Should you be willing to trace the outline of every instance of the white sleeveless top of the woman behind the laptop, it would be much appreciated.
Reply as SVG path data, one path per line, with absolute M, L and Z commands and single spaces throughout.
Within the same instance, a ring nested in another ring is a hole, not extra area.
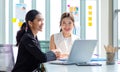
M 79 37 L 74 34 L 71 34 L 71 37 L 68 37 L 68 38 L 64 38 L 62 32 L 54 34 L 54 42 L 55 42 L 56 48 L 61 53 L 69 54 L 71 51 L 73 42 L 77 39 L 79 39 Z

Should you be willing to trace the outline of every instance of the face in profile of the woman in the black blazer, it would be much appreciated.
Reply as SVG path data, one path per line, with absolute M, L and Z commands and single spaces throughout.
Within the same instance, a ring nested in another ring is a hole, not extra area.
M 42 31 L 43 28 L 43 17 L 41 14 L 37 14 L 35 16 L 35 19 L 33 21 L 30 21 L 30 26 L 32 28 L 32 30 L 38 32 L 38 31 Z

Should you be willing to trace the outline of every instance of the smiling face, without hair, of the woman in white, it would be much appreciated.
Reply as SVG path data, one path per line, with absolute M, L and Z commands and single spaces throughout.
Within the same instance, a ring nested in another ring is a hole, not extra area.
M 74 22 L 69 18 L 63 18 L 61 22 L 61 29 L 63 33 L 71 33 L 74 27 Z

